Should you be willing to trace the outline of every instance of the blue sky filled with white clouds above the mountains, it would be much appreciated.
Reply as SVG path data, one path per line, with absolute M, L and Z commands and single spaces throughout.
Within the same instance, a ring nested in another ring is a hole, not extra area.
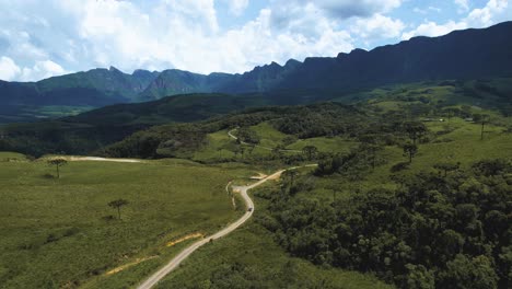
M 512 20 L 509 0 L 0 0 L 0 80 L 241 73 Z

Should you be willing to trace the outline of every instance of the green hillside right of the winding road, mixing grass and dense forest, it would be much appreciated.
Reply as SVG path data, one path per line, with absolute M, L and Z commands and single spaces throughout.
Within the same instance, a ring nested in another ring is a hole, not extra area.
M 258 188 L 255 223 L 199 251 L 160 288 L 282 287 L 280 250 L 298 258 L 284 266 L 293 271 L 305 273 L 305 261 L 398 288 L 510 288 L 512 119 L 491 104 L 501 99 L 489 93 L 498 83 L 381 88 L 356 106 L 254 108 L 152 127 L 103 153 L 244 163 L 263 173 L 318 163 Z M 265 253 L 275 250 L 279 257 Z M 340 287 L 330 278 L 324 286 Z

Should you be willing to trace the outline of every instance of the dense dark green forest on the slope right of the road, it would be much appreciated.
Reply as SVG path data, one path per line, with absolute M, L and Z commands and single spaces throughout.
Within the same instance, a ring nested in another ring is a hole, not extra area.
M 400 288 L 510 288 L 511 176 L 510 160 L 486 160 L 329 204 L 307 197 L 307 177 L 289 180 L 263 195 L 260 222 L 295 256 Z

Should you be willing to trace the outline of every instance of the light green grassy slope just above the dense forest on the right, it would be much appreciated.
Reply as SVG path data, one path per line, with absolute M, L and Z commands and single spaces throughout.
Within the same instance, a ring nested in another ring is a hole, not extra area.
M 480 140 L 481 126 L 467 123 L 459 118 L 446 122 L 427 123 L 429 130 L 428 143 L 418 144 L 418 154 L 412 159 L 408 169 L 397 174 L 412 175 L 421 171 L 437 172 L 437 163 L 461 163 L 462 169 L 468 169 L 474 162 L 484 159 L 511 158 L 512 134 L 504 132 L 504 127 L 488 125 L 485 128 L 484 140 Z M 439 132 L 441 131 L 441 132 Z M 337 198 L 348 198 L 350 195 L 368 192 L 372 188 L 395 187 L 389 182 L 393 165 L 407 162 L 402 148 L 385 147 L 377 153 L 381 165 L 370 170 L 362 180 L 346 180 L 339 176 L 315 178 L 315 194 L 312 197 L 333 199 L 336 190 Z

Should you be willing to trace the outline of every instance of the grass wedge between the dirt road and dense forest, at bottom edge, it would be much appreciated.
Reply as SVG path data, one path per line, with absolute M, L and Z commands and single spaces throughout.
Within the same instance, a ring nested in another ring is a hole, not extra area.
M 265 201 L 254 199 L 257 208 L 254 218 L 258 219 L 265 213 Z M 322 268 L 289 256 L 254 219 L 229 236 L 199 248 L 156 288 L 210 288 L 212 279 L 220 278 L 221 274 L 228 274 L 224 277 L 232 278 L 238 287 L 218 284 L 216 288 L 244 288 L 231 269 L 225 271 L 236 266 L 249 271 L 255 288 L 258 285 L 266 286 L 261 288 L 284 288 L 284 285 L 288 288 L 393 288 L 370 275 Z

